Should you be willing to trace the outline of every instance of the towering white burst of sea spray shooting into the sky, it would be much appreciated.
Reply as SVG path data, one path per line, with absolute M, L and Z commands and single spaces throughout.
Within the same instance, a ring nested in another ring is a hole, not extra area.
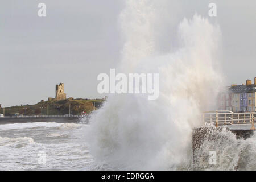
M 156 2 L 155 2 L 156 3 Z M 221 87 L 215 65 L 220 30 L 194 15 L 180 23 L 180 47 L 161 55 L 156 47 L 154 1 L 127 1 L 121 13 L 123 73 L 159 73 L 159 98 L 110 95 L 90 119 L 86 142 L 103 169 L 188 169 L 192 128 L 214 107 Z M 108 167 L 106 167 L 108 166 Z

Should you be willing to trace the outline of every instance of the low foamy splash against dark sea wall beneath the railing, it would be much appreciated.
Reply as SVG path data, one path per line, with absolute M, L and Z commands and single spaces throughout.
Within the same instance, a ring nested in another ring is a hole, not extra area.
M 216 156 L 216 163 L 209 164 L 209 151 Z M 200 148 L 195 151 L 194 170 L 255 170 L 256 138 L 237 138 L 236 134 L 222 127 L 209 127 Z

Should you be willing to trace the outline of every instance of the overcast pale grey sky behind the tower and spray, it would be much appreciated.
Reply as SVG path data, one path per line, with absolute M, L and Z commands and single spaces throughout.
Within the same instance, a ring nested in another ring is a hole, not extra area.
M 46 3 L 46 18 L 38 3 Z M 217 17 L 208 5 L 217 5 Z M 159 1 L 161 5 L 161 0 Z M 162 51 L 175 48 L 183 18 L 198 13 L 222 31 L 222 65 L 227 84 L 256 77 L 255 0 L 169 1 L 159 23 Z M 120 60 L 122 41 L 119 0 L 3 0 L 0 2 L 0 104 L 35 104 L 55 97 L 55 84 L 64 82 L 67 97 L 101 98 L 97 75 L 109 73 Z

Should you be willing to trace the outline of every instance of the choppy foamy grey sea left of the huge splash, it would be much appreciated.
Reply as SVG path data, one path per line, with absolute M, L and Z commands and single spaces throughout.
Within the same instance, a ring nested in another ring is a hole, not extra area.
M 81 135 L 88 125 L 14 123 L 0 125 L 0 170 L 81 169 L 92 162 Z M 46 163 L 40 163 L 44 151 Z

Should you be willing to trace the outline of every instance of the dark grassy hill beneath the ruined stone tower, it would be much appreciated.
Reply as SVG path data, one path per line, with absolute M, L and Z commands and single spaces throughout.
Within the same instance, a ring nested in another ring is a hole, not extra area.
M 71 114 L 81 114 L 83 111 L 90 113 L 102 105 L 105 100 L 96 99 L 73 99 L 66 100 L 51 100 L 38 102 L 35 105 L 24 105 L 24 115 L 46 115 L 46 108 L 48 107 L 48 115 L 69 114 L 69 105 Z M 3 108 L 0 109 L 3 113 Z M 12 106 L 5 108 L 5 115 L 14 115 L 15 113 L 22 114 L 22 106 Z

